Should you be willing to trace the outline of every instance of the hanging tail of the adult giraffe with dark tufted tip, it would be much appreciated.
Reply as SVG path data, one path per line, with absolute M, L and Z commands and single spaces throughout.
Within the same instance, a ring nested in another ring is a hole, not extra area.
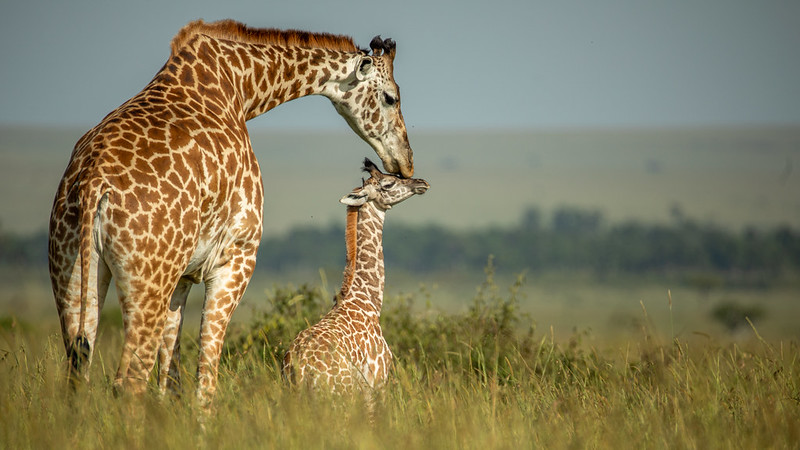
M 86 179 L 79 186 L 78 215 L 80 220 L 78 254 L 80 258 L 80 318 L 78 333 L 67 356 L 74 373 L 80 373 L 92 353 L 91 342 L 86 334 L 86 305 L 89 296 L 89 271 L 94 248 L 94 230 L 101 201 L 104 198 L 102 184 L 96 179 Z

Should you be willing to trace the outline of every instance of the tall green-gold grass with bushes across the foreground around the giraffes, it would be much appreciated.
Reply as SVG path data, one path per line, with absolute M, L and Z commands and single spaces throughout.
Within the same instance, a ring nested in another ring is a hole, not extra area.
M 738 343 L 662 341 L 648 320 L 623 345 L 588 346 L 580 332 L 557 342 L 520 313 L 524 278 L 501 289 L 493 275 L 490 264 L 457 314 L 433 309 L 425 291 L 387 299 L 395 367 L 372 425 L 359 396 L 312 398 L 281 382 L 286 346 L 330 307 L 324 286 L 277 288 L 230 331 L 202 420 L 191 358 L 182 397 L 115 397 L 116 361 L 100 352 L 121 344 L 109 330 L 92 382 L 71 393 L 60 337 L 2 322 L 0 448 L 798 447 L 797 342 L 767 342 L 755 328 Z

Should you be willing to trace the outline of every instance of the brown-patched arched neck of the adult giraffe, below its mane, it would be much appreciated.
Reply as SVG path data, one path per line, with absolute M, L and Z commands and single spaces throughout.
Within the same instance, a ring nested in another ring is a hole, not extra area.
M 347 51 L 346 45 L 311 48 L 231 39 L 209 32 L 173 43 L 162 71 L 172 72 L 181 84 L 196 83 L 205 98 L 208 92 L 203 91 L 221 91 L 228 101 L 239 103 L 245 120 L 250 120 L 306 95 L 333 97 L 355 69 L 355 47 Z

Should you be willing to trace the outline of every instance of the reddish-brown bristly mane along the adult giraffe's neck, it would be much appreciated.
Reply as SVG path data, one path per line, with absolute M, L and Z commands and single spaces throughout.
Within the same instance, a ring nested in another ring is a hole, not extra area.
M 193 37 L 205 34 L 218 39 L 227 39 L 252 44 L 278 44 L 289 47 L 325 48 L 345 52 L 363 52 L 350 36 L 311 33 L 301 30 L 279 30 L 276 28 L 251 28 L 234 20 L 205 22 L 202 19 L 190 22 L 172 39 L 172 53 L 176 54 Z

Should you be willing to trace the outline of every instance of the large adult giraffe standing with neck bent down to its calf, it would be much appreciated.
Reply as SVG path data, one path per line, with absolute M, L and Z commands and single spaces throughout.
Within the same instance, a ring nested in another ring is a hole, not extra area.
M 245 122 L 305 95 L 328 97 L 389 172 L 413 175 L 393 79 L 394 42 L 189 23 L 136 96 L 75 145 L 50 216 L 49 265 L 73 380 L 88 379 L 113 277 L 125 339 L 115 386 L 179 382 L 189 289 L 205 283 L 197 398 L 213 398 L 225 331 L 261 239 L 261 173 Z

